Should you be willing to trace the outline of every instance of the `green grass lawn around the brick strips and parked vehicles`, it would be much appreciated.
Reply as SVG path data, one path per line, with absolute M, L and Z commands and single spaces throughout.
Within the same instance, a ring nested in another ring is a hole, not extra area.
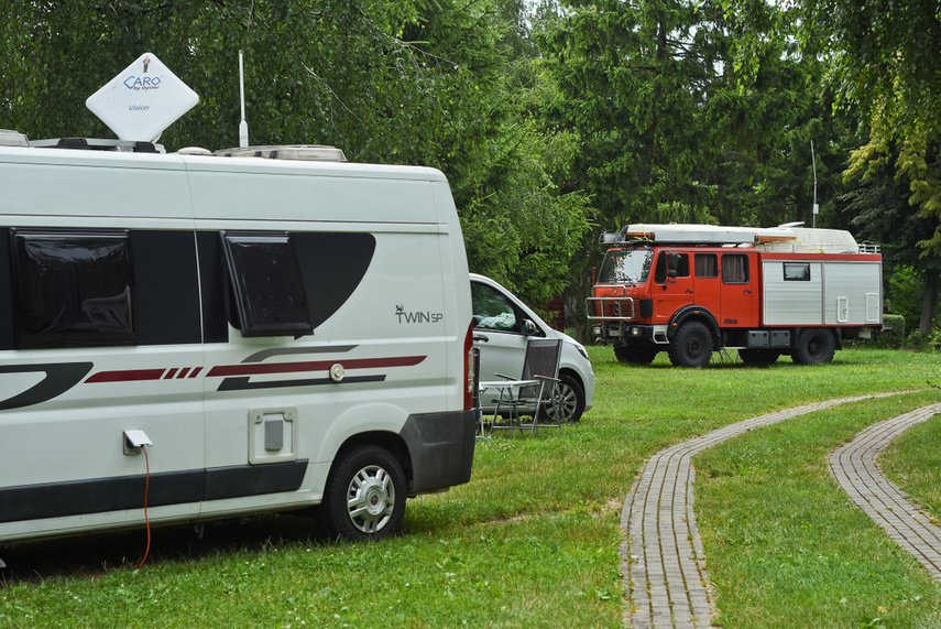
M 941 356 L 687 370 L 589 350 L 598 391 L 581 422 L 480 442 L 471 482 L 411 500 L 401 536 L 338 544 L 287 516 L 209 524 L 201 540 L 175 527 L 154 532 L 141 570 L 143 531 L 0 546 L 0 627 L 620 627 L 620 512 L 650 454 L 753 415 L 902 390 L 921 392 L 703 453 L 697 513 L 724 627 L 941 625 L 941 587 L 827 469 L 864 426 L 937 402 Z

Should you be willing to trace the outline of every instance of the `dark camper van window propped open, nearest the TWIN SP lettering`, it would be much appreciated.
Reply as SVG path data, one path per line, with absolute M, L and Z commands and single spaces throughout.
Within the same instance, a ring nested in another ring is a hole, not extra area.
M 286 232 L 222 231 L 242 336 L 299 336 L 314 327 L 294 245 Z

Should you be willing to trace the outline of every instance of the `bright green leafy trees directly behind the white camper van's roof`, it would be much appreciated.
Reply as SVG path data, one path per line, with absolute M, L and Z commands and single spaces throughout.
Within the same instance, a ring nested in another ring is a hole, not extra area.
M 524 9 L 494 0 L 4 2 L 0 121 L 34 139 L 110 137 L 84 100 L 150 51 L 200 97 L 162 143 L 233 147 L 242 50 L 253 144 L 333 144 L 351 161 L 442 170 L 472 268 L 539 303 L 561 292 L 587 204 L 548 180 L 544 143 L 521 123 L 525 102 L 506 96 L 515 86 L 505 62 L 532 54 Z

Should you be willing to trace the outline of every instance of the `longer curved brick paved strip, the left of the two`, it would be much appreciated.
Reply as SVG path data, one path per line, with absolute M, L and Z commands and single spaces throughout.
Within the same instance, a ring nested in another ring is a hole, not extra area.
M 787 409 L 677 444 L 652 456 L 634 480 L 621 528 L 621 570 L 628 603 L 625 625 L 637 629 L 709 627 L 712 598 L 702 542 L 692 510 L 692 457 L 755 427 L 872 398 L 827 400 Z

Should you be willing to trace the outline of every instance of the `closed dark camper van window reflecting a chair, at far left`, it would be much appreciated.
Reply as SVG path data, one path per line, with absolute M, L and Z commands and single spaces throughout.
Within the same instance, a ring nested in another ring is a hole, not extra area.
M 125 230 L 10 231 L 18 347 L 134 344 Z

